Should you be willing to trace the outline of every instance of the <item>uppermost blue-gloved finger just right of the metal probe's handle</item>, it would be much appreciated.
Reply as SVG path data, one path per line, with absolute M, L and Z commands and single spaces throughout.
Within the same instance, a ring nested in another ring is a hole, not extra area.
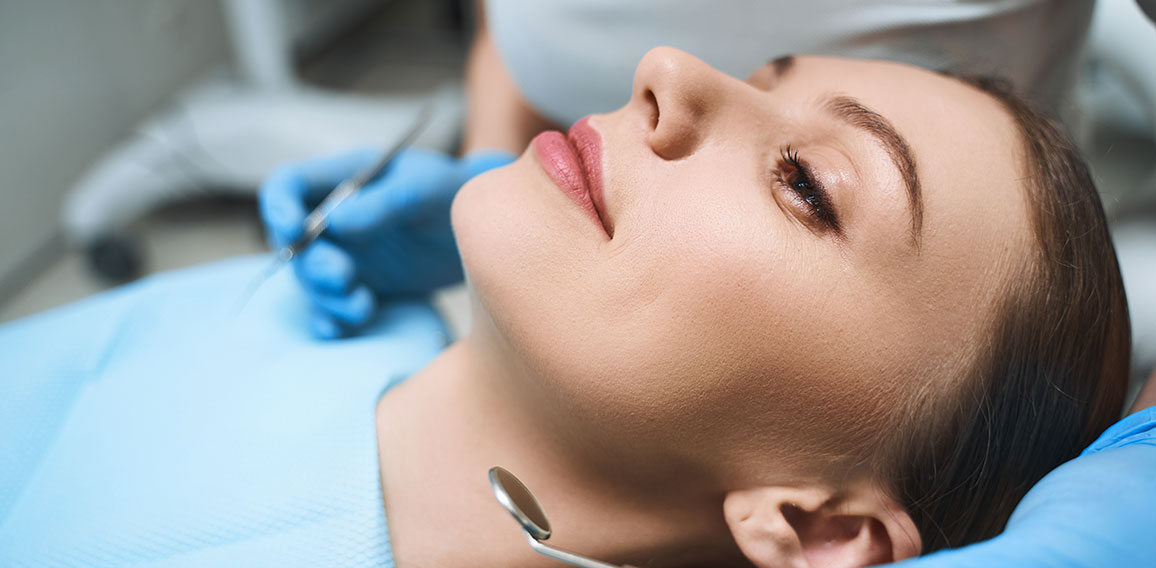
M 357 238 L 383 226 L 400 224 L 458 191 L 454 160 L 438 152 L 410 148 L 364 191 L 350 197 L 329 216 L 335 238 Z

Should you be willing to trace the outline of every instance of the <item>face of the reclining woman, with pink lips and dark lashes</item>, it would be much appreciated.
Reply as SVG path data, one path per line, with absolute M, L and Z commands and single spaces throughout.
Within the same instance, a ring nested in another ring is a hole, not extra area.
M 854 453 L 969 361 L 1030 243 L 1017 140 L 919 68 L 742 81 L 657 49 L 625 106 L 467 184 L 454 229 L 482 325 L 560 420 L 758 475 Z

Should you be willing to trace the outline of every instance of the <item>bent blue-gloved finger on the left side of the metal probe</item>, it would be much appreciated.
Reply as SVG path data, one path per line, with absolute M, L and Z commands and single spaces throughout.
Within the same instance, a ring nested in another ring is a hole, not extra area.
M 362 148 L 273 170 L 258 192 L 258 207 L 274 246 L 296 241 L 309 211 L 376 158 L 377 150 Z

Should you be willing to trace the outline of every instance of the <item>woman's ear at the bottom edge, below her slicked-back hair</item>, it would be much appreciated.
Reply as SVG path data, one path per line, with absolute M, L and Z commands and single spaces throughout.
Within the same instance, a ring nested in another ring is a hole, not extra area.
M 722 514 L 758 568 L 850 568 L 918 556 L 911 516 L 877 486 L 757 487 L 731 492 Z

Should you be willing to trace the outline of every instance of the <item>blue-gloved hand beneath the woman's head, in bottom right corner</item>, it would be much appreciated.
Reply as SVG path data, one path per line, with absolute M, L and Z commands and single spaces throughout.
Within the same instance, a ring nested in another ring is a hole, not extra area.
M 1119 421 L 1024 496 L 1000 536 L 903 568 L 1156 566 L 1156 407 Z

